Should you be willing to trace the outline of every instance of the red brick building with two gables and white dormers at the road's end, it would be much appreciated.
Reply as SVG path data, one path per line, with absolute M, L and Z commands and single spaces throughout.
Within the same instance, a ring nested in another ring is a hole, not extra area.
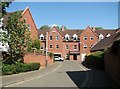
M 50 30 L 39 30 L 41 49 L 53 52 L 55 56 L 68 58 L 69 60 L 83 60 L 90 48 L 100 39 L 113 35 L 115 30 L 96 30 L 89 26 L 84 29 L 58 30 L 53 27 Z

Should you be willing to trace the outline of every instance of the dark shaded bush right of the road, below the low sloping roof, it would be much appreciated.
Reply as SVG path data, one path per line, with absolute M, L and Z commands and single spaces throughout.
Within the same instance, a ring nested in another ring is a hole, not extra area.
M 95 67 L 97 69 L 104 69 L 104 52 L 97 51 L 95 53 L 89 54 L 85 57 L 85 63 L 89 66 Z

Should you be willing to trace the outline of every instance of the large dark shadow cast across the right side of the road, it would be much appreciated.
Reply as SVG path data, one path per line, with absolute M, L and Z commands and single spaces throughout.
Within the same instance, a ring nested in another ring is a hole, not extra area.
M 100 70 L 88 70 L 88 71 L 67 71 L 67 75 L 77 85 L 78 88 L 83 85 L 86 80 L 86 73 L 88 72 L 88 81 L 85 84 L 85 89 L 120 89 L 120 86 L 104 71 Z

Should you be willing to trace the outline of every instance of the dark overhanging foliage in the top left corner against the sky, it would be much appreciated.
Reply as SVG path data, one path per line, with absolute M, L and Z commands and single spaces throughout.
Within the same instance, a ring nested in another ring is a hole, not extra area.
M 0 18 L 6 14 L 6 7 L 9 7 L 11 2 L 0 2 Z

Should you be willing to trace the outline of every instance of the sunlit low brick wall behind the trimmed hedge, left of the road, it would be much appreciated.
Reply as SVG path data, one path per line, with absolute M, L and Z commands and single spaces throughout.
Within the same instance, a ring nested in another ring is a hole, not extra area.
M 42 54 L 27 53 L 23 59 L 24 63 L 39 62 L 41 66 L 46 65 L 46 56 Z M 47 56 L 47 63 L 48 65 L 53 64 L 53 59 L 51 59 L 49 56 Z

